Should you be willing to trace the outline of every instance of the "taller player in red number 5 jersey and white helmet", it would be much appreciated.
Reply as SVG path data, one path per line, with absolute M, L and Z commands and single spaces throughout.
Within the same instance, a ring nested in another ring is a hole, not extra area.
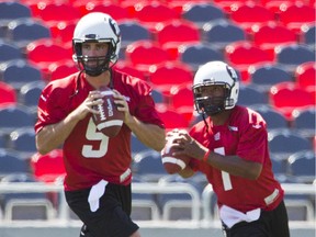
M 49 82 L 38 102 L 36 146 L 46 154 L 63 146 L 66 200 L 83 222 L 80 236 L 139 237 L 131 219 L 131 134 L 161 150 L 165 125 L 155 110 L 151 88 L 113 69 L 121 46 L 117 23 L 94 12 L 77 24 L 72 40 L 79 72 Z M 54 52 L 53 52 L 54 54 Z M 95 128 L 93 105 L 102 103 L 98 88 L 115 92 L 124 124 L 115 137 Z

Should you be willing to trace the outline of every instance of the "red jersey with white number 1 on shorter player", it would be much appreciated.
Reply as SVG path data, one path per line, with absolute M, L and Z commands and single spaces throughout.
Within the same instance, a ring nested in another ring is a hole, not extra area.
M 211 117 L 195 124 L 190 135 L 208 149 L 221 155 L 237 155 L 262 163 L 257 180 L 232 176 L 204 161 L 192 159 L 190 166 L 206 174 L 217 195 L 218 206 L 227 205 L 240 212 L 255 208 L 273 210 L 282 201 L 284 191 L 272 173 L 266 122 L 257 112 L 235 106 L 224 125 L 215 126 Z

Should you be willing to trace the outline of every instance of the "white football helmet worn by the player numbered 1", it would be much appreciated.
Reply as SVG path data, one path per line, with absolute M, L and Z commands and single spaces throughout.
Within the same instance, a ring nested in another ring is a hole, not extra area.
M 208 86 L 223 86 L 226 89 L 224 98 L 202 97 L 201 89 Z M 239 93 L 238 76 L 223 61 L 208 61 L 198 69 L 192 89 L 198 113 L 214 115 L 236 105 Z

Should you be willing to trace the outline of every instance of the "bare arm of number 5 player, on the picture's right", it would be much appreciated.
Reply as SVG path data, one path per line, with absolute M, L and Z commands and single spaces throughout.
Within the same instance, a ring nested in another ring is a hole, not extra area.
M 156 124 L 143 123 L 137 120 L 137 117 L 131 115 L 127 102 L 124 97 L 116 90 L 115 103 L 120 104 L 117 110 L 123 111 L 124 123 L 129 127 L 129 129 L 135 134 L 135 136 L 146 146 L 160 151 L 165 146 L 165 128 L 159 127 Z

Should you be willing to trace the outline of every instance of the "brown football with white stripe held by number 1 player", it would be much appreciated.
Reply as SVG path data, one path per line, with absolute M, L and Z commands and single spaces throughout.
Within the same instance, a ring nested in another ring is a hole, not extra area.
M 166 143 L 166 146 L 161 150 L 161 161 L 165 170 L 170 173 L 178 173 L 182 169 L 187 167 L 190 161 L 190 157 L 188 156 L 179 156 L 174 157 L 172 154 L 176 151 L 174 147 L 171 147 L 172 139 L 169 139 Z

